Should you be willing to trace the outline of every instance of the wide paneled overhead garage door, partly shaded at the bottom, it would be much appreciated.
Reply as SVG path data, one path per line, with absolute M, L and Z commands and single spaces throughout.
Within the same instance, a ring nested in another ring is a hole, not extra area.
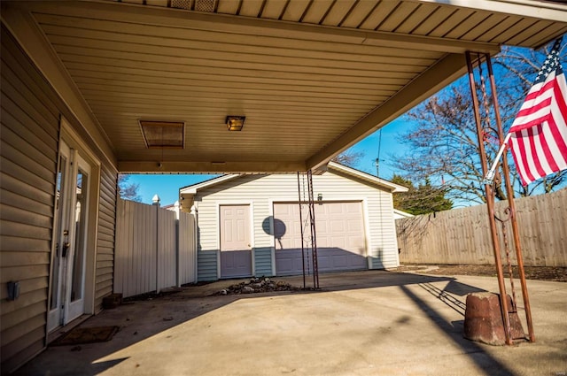
M 309 238 L 307 205 L 303 206 L 303 226 Z M 361 202 L 315 203 L 315 228 L 320 272 L 368 269 Z M 274 203 L 274 235 L 277 275 L 302 273 L 298 203 Z M 306 269 L 312 270 L 311 255 L 305 262 Z

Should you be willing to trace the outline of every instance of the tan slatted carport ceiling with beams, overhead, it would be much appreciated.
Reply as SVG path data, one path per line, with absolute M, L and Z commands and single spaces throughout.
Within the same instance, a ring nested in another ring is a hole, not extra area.
M 22 44 L 22 20 L 41 31 L 122 172 L 321 166 L 465 73 L 464 51 L 567 32 L 567 6 L 528 0 L 126 3 L 3 2 Z M 184 149 L 148 149 L 140 120 L 184 122 Z

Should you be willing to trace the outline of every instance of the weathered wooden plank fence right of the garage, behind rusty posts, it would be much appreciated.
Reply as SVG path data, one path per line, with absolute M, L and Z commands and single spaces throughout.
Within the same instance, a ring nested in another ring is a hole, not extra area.
M 515 203 L 524 265 L 567 266 L 567 188 L 516 199 Z M 506 218 L 507 206 L 507 202 L 496 203 L 499 218 Z M 502 234 L 499 221 L 497 226 Z M 506 226 L 512 263 L 516 265 L 509 222 Z M 486 205 L 396 219 L 396 231 L 401 263 L 494 264 Z M 505 257 L 503 241 L 501 246 Z

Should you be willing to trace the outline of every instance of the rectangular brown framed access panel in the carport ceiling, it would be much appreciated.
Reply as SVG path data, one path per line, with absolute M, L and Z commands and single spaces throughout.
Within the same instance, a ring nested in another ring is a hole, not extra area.
M 185 123 L 174 121 L 140 120 L 145 146 L 148 149 L 185 147 Z

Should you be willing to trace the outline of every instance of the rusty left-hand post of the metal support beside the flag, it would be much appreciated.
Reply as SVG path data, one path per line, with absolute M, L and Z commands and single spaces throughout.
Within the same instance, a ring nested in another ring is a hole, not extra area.
M 482 137 L 482 127 L 480 121 L 480 113 L 478 111 L 478 97 L 475 85 L 474 71 L 472 66 L 472 58 L 470 57 L 470 51 L 465 53 L 467 59 L 467 67 L 469 68 L 469 83 L 470 91 L 472 95 L 473 108 L 475 113 L 475 122 L 477 124 L 477 136 L 478 136 L 478 151 L 480 154 L 480 162 L 482 165 L 483 174 L 487 173 L 487 161 L 485 153 L 485 143 Z M 480 61 L 478 62 L 480 64 Z M 500 242 L 498 240 L 498 233 L 496 232 L 496 220 L 494 218 L 494 192 L 492 185 L 485 183 L 485 196 L 486 196 L 486 207 L 488 209 L 488 220 L 490 223 L 490 234 L 493 241 L 493 253 L 494 253 L 494 263 L 496 264 L 496 276 L 498 278 L 498 288 L 500 290 L 500 306 L 502 321 L 504 323 L 504 336 L 506 339 L 506 344 L 512 344 L 512 335 L 510 330 L 510 319 L 508 310 L 508 295 L 506 294 L 506 285 L 504 284 L 504 275 L 502 272 L 502 259 Z

